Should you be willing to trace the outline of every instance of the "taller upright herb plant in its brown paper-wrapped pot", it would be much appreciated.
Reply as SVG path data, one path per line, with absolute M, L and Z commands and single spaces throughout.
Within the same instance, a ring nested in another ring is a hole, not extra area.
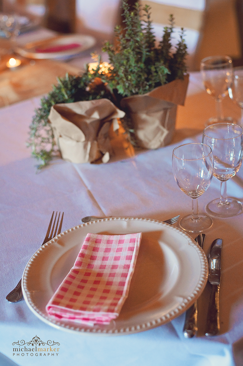
M 174 18 L 170 15 L 170 26 L 156 45 L 148 5 L 142 15 L 138 4 L 130 11 L 126 0 L 123 9 L 125 28 L 116 27 L 117 43 L 107 42 L 103 48 L 112 64 L 107 82 L 119 108 L 126 112 L 123 122 L 134 145 L 156 149 L 170 143 L 177 105 L 183 105 L 186 96 L 184 30 L 173 49 Z

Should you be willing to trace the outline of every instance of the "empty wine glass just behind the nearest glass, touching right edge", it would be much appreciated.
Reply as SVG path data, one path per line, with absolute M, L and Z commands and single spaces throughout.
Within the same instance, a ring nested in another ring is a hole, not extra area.
M 204 128 L 202 142 L 212 148 L 213 175 L 220 180 L 220 198 L 206 205 L 216 217 L 232 217 L 242 212 L 240 201 L 227 197 L 226 182 L 240 169 L 243 158 L 243 129 L 238 124 L 216 123 Z

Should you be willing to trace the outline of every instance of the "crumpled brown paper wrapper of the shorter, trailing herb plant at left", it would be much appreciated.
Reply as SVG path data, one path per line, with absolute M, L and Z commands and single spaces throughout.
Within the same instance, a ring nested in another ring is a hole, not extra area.
M 49 121 L 62 158 L 72 163 L 107 163 L 113 154 L 110 126 L 118 130 L 117 119 L 124 115 L 106 98 L 54 105 Z

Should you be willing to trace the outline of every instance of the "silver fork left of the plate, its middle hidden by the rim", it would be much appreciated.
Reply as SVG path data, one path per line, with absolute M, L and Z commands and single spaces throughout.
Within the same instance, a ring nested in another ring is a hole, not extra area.
M 53 220 L 53 216 L 54 216 L 54 211 L 53 211 L 52 217 L 50 219 L 50 223 L 49 223 L 49 226 L 48 226 L 48 229 L 47 229 L 47 232 L 46 232 L 45 239 L 44 239 L 43 243 L 41 244 L 41 246 L 44 245 L 45 243 L 49 242 L 49 240 L 53 239 L 56 235 L 60 234 L 61 228 L 62 228 L 62 220 L 63 220 L 64 212 L 62 212 L 61 221 L 60 221 L 60 224 L 59 224 L 59 227 L 58 227 L 58 222 L 59 222 L 59 219 L 60 219 L 60 213 L 61 212 L 59 212 L 59 215 L 58 215 L 58 218 L 57 218 L 57 212 L 56 212 L 56 216 L 55 216 L 54 223 L 53 223 L 53 226 L 52 226 L 52 220 Z M 56 224 L 56 228 L 55 228 L 56 219 L 57 219 L 57 224 Z M 52 227 L 52 231 L 51 231 L 51 227 Z M 57 230 L 57 228 L 58 228 L 58 230 Z M 54 229 L 55 229 L 55 231 L 54 231 Z M 54 233 L 53 233 L 53 231 L 54 231 Z M 12 290 L 6 296 L 6 299 L 8 301 L 17 302 L 17 301 L 22 299 L 23 292 L 22 292 L 21 282 L 22 282 L 22 279 L 19 281 L 18 285 L 14 288 L 14 290 Z

